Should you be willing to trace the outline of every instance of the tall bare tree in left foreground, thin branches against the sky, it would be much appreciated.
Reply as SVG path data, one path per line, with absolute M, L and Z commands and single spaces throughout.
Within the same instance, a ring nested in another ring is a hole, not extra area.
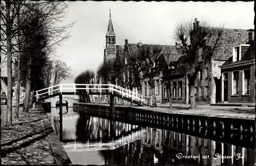
M 23 25 L 33 17 L 31 13 L 40 14 L 39 24 L 44 25 L 45 33 L 50 34 L 49 40 L 51 42 L 45 47 L 48 51 L 53 51 L 54 45 L 59 45 L 61 41 L 68 39 L 70 27 L 74 23 L 65 26 L 56 26 L 63 17 L 66 17 L 65 9 L 68 7 L 66 2 L 30 2 L 30 1 L 2 1 L 1 2 L 1 53 L 5 53 L 7 57 L 7 70 L 8 70 L 8 106 L 7 106 L 7 122 L 6 125 L 12 124 L 12 58 L 16 52 L 17 45 L 14 39 L 19 36 L 19 32 Z M 17 16 L 23 18 L 23 22 L 17 24 Z M 25 19 L 26 18 L 26 19 Z M 19 84 L 19 82 L 18 82 Z M 26 91 L 30 91 L 27 88 Z M 19 91 L 18 91 L 19 92 Z M 19 95 L 17 95 L 19 96 Z M 28 96 L 27 96 L 28 97 Z M 27 101 L 27 100 L 25 100 Z

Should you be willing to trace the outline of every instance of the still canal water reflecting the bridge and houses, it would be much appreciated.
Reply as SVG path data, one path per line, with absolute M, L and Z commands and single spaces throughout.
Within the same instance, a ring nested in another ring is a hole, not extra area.
M 63 142 L 73 164 L 254 165 L 255 151 L 153 126 L 138 126 L 63 112 Z M 47 113 L 59 133 L 59 107 Z M 238 136 L 239 137 L 239 136 Z M 254 139 L 250 139 L 253 140 Z M 232 142 L 233 143 L 233 142 Z

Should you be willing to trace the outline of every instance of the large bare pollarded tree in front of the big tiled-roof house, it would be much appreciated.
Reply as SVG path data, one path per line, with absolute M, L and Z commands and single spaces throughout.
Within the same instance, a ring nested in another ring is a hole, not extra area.
M 223 27 L 214 27 L 206 20 L 200 24 L 197 19 L 194 23 L 193 20 L 190 20 L 176 24 L 175 39 L 181 42 L 185 53 L 180 65 L 183 66 L 184 73 L 188 78 L 190 109 L 196 108 L 194 86 L 198 72 L 210 62 L 212 54 L 219 46 L 218 42 L 221 39 L 222 31 Z

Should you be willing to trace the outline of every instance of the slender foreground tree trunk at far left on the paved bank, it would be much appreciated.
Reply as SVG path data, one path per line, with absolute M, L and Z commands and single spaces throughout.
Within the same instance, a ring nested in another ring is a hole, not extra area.
M 6 45 L 7 45 L 7 114 L 6 126 L 12 125 L 12 52 L 11 52 L 11 20 L 10 2 L 6 1 Z

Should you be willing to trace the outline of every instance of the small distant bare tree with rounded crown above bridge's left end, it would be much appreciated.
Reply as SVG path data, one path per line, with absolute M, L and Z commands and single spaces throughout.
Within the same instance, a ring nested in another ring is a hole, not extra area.
M 70 71 L 71 68 L 67 66 L 65 62 L 55 60 L 52 70 L 53 86 L 58 85 L 62 80 L 72 78 L 72 74 L 70 73 Z

